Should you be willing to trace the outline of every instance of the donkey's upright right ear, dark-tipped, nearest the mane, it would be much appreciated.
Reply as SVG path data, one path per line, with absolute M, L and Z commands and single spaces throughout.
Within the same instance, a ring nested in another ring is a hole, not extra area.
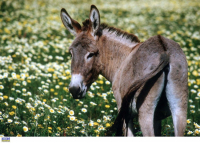
M 91 5 L 90 21 L 92 22 L 92 33 L 95 35 L 100 26 L 100 14 L 95 5 Z

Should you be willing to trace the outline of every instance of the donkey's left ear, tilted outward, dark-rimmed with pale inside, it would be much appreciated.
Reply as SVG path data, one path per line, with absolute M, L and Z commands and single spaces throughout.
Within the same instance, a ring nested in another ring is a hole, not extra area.
M 62 19 L 64 26 L 74 36 L 76 36 L 79 32 L 81 32 L 81 25 L 77 21 L 73 20 L 64 8 L 61 9 L 60 17 Z

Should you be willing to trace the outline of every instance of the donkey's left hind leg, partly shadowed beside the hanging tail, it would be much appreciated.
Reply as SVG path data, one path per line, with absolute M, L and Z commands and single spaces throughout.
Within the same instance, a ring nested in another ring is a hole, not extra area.
M 149 80 L 143 88 L 140 96 L 137 100 L 137 108 L 139 108 L 139 124 L 143 136 L 155 136 L 154 131 L 156 126 L 160 125 L 160 122 L 154 121 L 155 108 L 161 97 L 165 84 L 165 73 L 160 73 L 154 78 Z M 159 129 L 160 130 L 160 129 Z

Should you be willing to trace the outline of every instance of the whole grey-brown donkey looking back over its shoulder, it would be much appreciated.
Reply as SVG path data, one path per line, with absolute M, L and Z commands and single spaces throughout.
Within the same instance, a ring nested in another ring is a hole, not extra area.
M 75 36 L 69 47 L 73 98 L 83 98 L 101 74 L 112 83 L 117 102 L 116 135 L 134 136 L 135 115 L 143 136 L 160 136 L 161 120 L 170 115 L 175 136 L 184 135 L 188 72 L 186 57 L 176 42 L 160 35 L 140 42 L 134 34 L 100 24 L 95 5 L 83 26 L 64 8 L 60 16 Z

